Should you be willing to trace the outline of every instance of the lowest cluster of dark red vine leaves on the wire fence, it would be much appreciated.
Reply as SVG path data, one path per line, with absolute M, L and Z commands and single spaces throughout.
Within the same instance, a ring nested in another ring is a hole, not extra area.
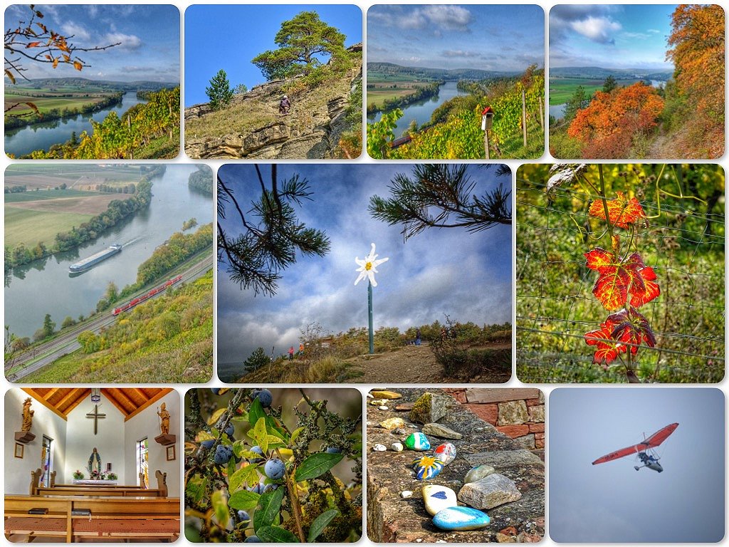
M 640 344 L 654 347 L 655 335 L 648 319 L 631 308 L 609 315 L 598 330 L 585 333 L 585 343 L 596 346 L 593 362 L 609 365 L 618 354 L 628 352 L 628 348 L 636 354 Z

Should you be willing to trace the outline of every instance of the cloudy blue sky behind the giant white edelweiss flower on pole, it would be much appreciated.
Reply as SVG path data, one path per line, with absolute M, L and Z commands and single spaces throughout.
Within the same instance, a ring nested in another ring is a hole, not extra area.
M 262 166 L 270 181 L 270 166 Z M 493 170 L 469 166 L 478 181 L 478 193 L 510 178 L 495 182 Z M 241 208 L 247 211 L 260 195 L 252 165 L 225 165 L 219 177 L 246 195 Z M 511 226 L 499 225 L 479 233 L 460 228 L 431 228 L 403 243 L 400 228 L 374 220 L 367 212 L 370 196 L 388 195 L 387 186 L 397 173 L 410 175 L 410 164 L 279 164 L 278 178 L 305 176 L 313 201 L 297 207 L 308 227 L 327 232 L 331 251 L 324 257 L 297 256 L 297 263 L 284 271 L 278 294 L 273 298 L 241 290 L 230 282 L 225 265 L 218 273 L 218 360 L 243 362 L 258 346 L 283 353 L 299 344 L 300 328 L 319 322 L 332 333 L 367 326 L 367 284 L 354 286 L 355 257 L 361 260 L 377 246 L 380 258 L 374 287 L 374 324 L 408 327 L 453 320 L 484 323 L 511 319 Z M 269 182 L 270 185 L 270 182 Z M 223 221 L 226 230 L 238 233 L 233 217 Z

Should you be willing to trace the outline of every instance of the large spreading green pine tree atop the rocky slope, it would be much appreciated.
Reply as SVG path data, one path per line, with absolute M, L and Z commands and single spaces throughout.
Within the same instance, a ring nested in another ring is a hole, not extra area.
M 253 59 L 268 80 L 308 74 L 321 65 L 317 55 L 330 55 L 336 60 L 347 57 L 346 36 L 327 25 L 316 12 L 301 12 L 281 23 L 274 42 L 278 50 L 268 50 Z

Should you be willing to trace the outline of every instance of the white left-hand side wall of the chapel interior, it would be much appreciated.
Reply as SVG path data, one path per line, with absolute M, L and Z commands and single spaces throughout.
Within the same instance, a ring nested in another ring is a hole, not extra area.
M 31 471 L 41 466 L 43 435 L 52 438 L 53 466 L 56 482 L 65 482 L 66 468 L 66 421 L 46 408 L 33 397 L 34 411 L 31 433 L 33 441 L 26 443 L 23 459 L 15 457 L 15 432 L 23 425 L 23 401 L 30 397 L 22 389 L 14 387 L 5 393 L 5 493 L 29 494 Z M 69 476 L 70 477 L 70 476 Z

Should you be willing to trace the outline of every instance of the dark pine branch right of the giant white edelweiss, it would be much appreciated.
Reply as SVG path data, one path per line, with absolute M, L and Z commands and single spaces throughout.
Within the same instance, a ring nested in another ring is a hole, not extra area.
M 511 180 L 511 171 L 487 165 L 497 179 Z M 390 198 L 373 195 L 368 210 L 389 225 L 402 225 L 407 240 L 426 228 L 467 228 L 480 231 L 511 224 L 511 190 L 499 185 L 486 191 L 465 165 L 418 164 L 413 178 L 398 173 L 389 185 Z M 477 195 L 477 192 L 483 193 Z

